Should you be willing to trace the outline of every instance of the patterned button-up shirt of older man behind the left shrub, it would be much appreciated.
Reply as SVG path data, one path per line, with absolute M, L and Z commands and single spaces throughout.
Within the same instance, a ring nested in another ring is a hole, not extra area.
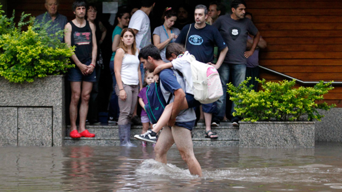
M 57 31 L 64 30 L 65 25 L 68 23 L 67 17 L 59 13 L 56 14 L 55 20 L 52 21 L 52 17 L 48 12 L 38 15 L 36 17 L 35 23 L 45 24 L 49 21 L 51 21 L 51 26 L 48 27 L 47 31 L 49 35 L 55 34 Z M 64 37 L 59 37 L 58 39 L 61 40 L 61 42 L 64 42 Z

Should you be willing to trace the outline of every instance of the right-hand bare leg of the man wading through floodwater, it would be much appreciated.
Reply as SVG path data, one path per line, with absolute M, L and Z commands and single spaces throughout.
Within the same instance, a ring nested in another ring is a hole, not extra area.
M 182 159 L 189 167 L 190 174 L 202 177 L 201 166 L 194 154 L 190 130 L 183 127 L 173 126 L 172 135 Z

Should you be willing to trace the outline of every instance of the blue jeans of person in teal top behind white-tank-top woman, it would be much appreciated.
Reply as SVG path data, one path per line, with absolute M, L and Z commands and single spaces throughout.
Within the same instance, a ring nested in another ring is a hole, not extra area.
M 113 93 L 111 94 L 110 101 L 109 101 L 108 117 L 118 119 L 120 110 L 119 110 L 118 96 L 116 95 L 116 92 L 115 92 L 116 78 L 115 78 L 115 73 L 114 73 L 114 61 L 110 61 L 109 69 L 110 69 L 111 77 L 113 78 Z

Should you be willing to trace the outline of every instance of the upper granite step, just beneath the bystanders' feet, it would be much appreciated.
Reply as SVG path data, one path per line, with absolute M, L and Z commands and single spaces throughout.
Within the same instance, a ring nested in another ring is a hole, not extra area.
M 118 126 L 117 125 L 86 125 L 86 129 L 90 133 L 94 133 L 96 138 L 113 138 L 118 137 Z M 219 127 L 212 127 L 213 132 L 217 133 L 219 138 L 238 138 L 239 128 L 234 127 L 231 123 L 222 125 Z M 136 134 L 141 134 L 142 126 L 131 127 L 131 137 L 133 138 Z M 193 138 L 204 138 L 206 127 L 204 125 L 198 125 L 193 128 Z M 67 126 L 67 136 L 70 134 L 70 126 Z

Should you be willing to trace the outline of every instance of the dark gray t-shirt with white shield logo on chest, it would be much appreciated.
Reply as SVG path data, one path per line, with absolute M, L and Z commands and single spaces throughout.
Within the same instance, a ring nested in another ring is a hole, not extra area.
M 228 53 L 224 58 L 224 63 L 246 64 L 247 59 L 244 55 L 248 33 L 255 36 L 258 33 L 257 27 L 249 18 L 234 20 L 231 15 L 219 17 L 213 26 L 216 27 L 228 45 Z

